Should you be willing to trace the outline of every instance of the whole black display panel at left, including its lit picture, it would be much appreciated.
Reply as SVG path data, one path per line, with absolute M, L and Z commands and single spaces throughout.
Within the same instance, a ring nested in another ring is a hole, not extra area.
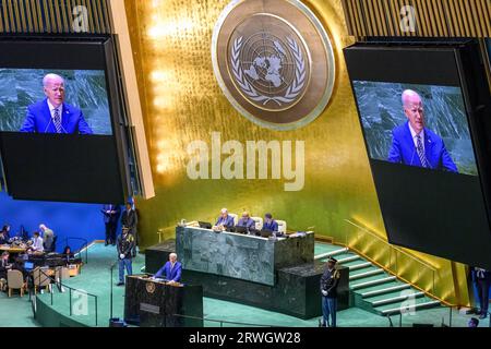
M 12 197 L 124 201 L 115 57 L 111 36 L 0 38 L 0 154 Z

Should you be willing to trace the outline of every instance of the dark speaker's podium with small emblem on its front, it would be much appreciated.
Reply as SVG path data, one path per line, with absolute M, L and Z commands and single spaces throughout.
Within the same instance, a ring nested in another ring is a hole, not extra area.
M 203 327 L 203 287 L 127 276 L 124 321 L 141 327 Z

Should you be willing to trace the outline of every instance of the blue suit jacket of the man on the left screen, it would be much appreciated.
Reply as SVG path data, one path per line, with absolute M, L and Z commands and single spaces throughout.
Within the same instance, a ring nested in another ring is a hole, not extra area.
M 85 121 L 82 110 L 67 104 L 63 104 L 61 125 L 62 133 L 94 133 Z M 49 111 L 48 99 L 38 101 L 27 107 L 27 115 L 20 131 L 28 133 L 57 133 L 57 129 L 52 122 L 51 112 Z

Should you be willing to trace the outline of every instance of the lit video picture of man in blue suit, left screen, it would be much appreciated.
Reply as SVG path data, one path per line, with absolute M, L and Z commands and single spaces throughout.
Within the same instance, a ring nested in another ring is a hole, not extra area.
M 0 131 L 112 134 L 105 72 L 0 68 Z

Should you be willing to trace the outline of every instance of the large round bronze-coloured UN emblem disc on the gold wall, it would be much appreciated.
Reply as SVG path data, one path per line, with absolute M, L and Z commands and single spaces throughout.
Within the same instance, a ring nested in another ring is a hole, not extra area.
M 232 106 L 273 130 L 301 128 L 325 109 L 334 52 L 323 25 L 297 0 L 236 0 L 213 34 L 215 76 Z

